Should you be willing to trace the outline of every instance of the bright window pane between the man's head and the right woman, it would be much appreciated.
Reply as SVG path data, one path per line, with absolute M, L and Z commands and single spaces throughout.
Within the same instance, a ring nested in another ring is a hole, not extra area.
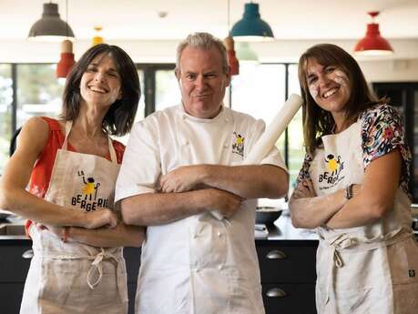
M 285 66 L 243 63 L 231 86 L 232 109 L 263 119 L 268 126 L 284 103 Z M 284 133 L 276 146 L 284 158 Z

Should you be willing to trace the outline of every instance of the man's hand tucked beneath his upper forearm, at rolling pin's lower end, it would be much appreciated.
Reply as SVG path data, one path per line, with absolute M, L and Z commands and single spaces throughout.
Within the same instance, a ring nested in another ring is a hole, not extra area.
M 212 206 L 209 209 L 219 211 L 224 218 L 233 216 L 240 209 L 241 202 L 244 200 L 223 189 L 209 188 L 208 191 L 212 201 Z

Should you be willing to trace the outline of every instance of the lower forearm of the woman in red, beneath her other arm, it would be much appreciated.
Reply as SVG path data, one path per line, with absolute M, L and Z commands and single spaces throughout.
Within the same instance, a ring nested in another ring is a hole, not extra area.
M 128 226 L 120 222 L 116 228 L 68 228 L 68 240 L 97 248 L 140 247 L 145 238 L 145 228 Z

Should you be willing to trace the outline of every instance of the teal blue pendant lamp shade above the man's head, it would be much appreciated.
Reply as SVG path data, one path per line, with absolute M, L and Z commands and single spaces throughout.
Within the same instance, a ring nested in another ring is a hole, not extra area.
M 259 4 L 245 4 L 242 19 L 232 26 L 230 35 L 236 41 L 273 41 L 270 25 L 260 18 Z

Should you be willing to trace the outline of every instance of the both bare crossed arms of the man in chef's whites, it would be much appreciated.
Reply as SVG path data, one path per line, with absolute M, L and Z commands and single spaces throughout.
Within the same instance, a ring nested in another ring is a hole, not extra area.
M 280 167 L 197 165 L 178 167 L 160 178 L 158 193 L 121 201 L 127 224 L 159 225 L 205 211 L 229 218 L 245 198 L 280 198 L 287 193 L 288 175 Z

